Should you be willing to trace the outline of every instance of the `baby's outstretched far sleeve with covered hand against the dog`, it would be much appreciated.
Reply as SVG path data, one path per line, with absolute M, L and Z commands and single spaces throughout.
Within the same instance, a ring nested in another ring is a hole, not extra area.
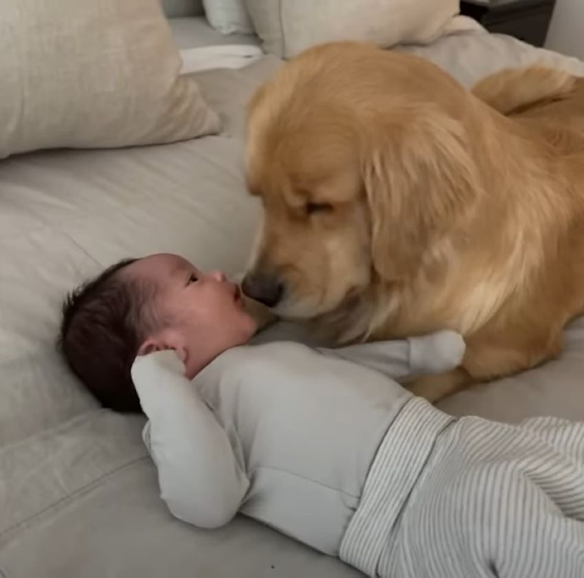
M 407 340 L 319 348 L 318 351 L 372 368 L 392 379 L 403 379 L 451 370 L 460 365 L 465 349 L 462 335 L 446 330 Z

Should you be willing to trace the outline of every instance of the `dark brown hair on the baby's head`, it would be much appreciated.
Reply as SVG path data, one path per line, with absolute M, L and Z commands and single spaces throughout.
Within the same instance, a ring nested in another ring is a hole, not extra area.
M 60 326 L 59 346 L 71 370 L 118 412 L 141 410 L 131 367 L 154 323 L 147 305 L 155 287 L 121 274 L 135 261 L 121 260 L 69 293 Z

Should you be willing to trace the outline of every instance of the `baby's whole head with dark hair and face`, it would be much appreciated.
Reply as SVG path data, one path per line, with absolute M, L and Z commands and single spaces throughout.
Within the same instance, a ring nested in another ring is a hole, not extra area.
M 174 349 L 192 379 L 256 331 L 237 285 L 177 255 L 120 261 L 71 293 L 60 344 L 71 369 L 107 408 L 139 411 L 137 355 Z

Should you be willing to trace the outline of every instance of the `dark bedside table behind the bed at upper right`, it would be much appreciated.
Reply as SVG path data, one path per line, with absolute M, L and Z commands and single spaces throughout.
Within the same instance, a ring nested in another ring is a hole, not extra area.
M 489 32 L 543 46 L 555 5 L 556 0 L 461 0 L 460 14 L 471 16 Z

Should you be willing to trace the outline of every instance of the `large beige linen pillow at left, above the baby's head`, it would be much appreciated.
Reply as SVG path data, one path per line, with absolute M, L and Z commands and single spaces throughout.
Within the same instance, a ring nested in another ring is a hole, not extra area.
M 159 0 L 2 0 L 0 158 L 216 133 Z

